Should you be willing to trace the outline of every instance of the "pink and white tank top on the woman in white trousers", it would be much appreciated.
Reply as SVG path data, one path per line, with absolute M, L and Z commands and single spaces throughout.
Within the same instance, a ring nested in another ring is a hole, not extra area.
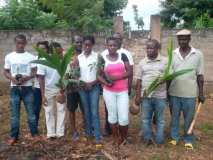
M 105 67 L 104 70 L 108 75 L 112 76 L 122 76 L 125 72 L 124 62 L 121 60 L 121 56 L 119 55 L 116 61 L 110 61 L 104 56 Z M 128 90 L 128 80 L 121 79 L 113 82 L 111 87 L 104 86 L 104 89 L 112 92 L 122 92 Z

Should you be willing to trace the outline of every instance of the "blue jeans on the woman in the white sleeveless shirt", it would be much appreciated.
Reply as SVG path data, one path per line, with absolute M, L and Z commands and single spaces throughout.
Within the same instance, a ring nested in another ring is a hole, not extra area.
M 86 135 L 93 136 L 94 128 L 96 143 L 99 143 L 101 137 L 99 118 L 100 88 L 98 85 L 95 85 L 92 87 L 91 90 L 79 91 L 79 94 L 84 108 L 84 116 L 86 120 Z

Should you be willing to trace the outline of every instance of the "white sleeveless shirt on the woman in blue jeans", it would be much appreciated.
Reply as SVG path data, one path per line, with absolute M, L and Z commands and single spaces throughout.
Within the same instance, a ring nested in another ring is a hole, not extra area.
M 97 79 L 97 63 L 98 54 L 94 51 L 86 57 L 84 53 L 78 55 L 80 67 L 80 80 L 84 82 L 92 82 Z

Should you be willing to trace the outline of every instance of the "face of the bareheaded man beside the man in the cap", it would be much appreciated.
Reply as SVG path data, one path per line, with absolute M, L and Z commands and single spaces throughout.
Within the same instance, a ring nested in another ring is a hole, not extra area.
M 158 46 L 154 42 L 148 42 L 146 45 L 147 57 L 155 59 L 158 56 Z

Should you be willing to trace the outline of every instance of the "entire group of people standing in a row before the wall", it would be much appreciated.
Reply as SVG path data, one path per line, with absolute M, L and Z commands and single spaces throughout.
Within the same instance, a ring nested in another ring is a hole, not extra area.
M 172 70 L 192 68 L 193 71 L 179 76 L 168 84 L 161 84 L 149 96 L 144 90 L 153 79 L 164 72 L 167 58 L 160 54 L 160 43 L 149 39 L 146 43 L 146 56 L 135 67 L 135 104 L 142 108 L 142 132 L 144 143 L 153 143 L 152 118 L 156 117 L 157 144 L 164 143 L 164 110 L 169 101 L 171 111 L 171 141 L 177 145 L 179 136 L 180 113 L 184 116 L 185 147 L 193 148 L 193 135 L 187 130 L 195 112 L 196 98 L 204 102 L 203 83 L 204 67 L 202 53 L 189 43 L 191 32 L 181 30 L 177 34 L 179 48 L 174 50 Z M 66 78 L 76 79 L 81 83 L 68 85 L 60 89 L 56 83 L 60 79 L 59 73 L 51 67 L 31 63 L 38 59 L 25 51 L 26 37 L 19 34 L 15 37 L 16 50 L 5 57 L 4 75 L 11 81 L 10 109 L 11 131 L 8 143 L 13 145 L 18 140 L 20 103 L 24 102 L 28 115 L 28 125 L 31 139 L 38 138 L 38 121 L 43 105 L 46 118 L 48 139 L 64 136 L 66 106 L 70 115 L 72 140 L 79 139 L 76 126 L 76 109 L 82 112 L 84 122 L 84 136 L 95 137 L 96 147 L 101 147 L 102 134 L 99 117 L 99 97 L 102 94 L 105 103 L 105 135 L 113 137 L 112 145 L 128 143 L 129 125 L 129 95 L 132 91 L 133 58 L 131 53 L 122 48 L 122 35 L 113 34 L 106 39 L 106 49 L 98 54 L 93 50 L 95 38 L 93 36 L 74 36 L 74 56 L 67 68 Z M 63 49 L 57 42 L 41 41 L 37 47 L 51 56 L 56 51 L 63 57 Z M 81 84 L 81 85 L 78 85 Z M 63 98 L 66 97 L 66 100 Z M 55 117 L 54 107 L 57 114 Z M 56 121 L 57 120 L 57 121 Z

